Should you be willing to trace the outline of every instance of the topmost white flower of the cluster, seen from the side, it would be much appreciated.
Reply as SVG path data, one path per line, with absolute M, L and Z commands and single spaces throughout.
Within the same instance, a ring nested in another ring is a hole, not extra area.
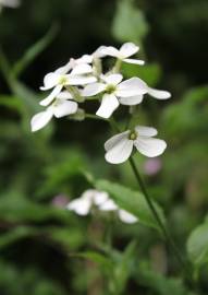
M 101 48 L 101 52 L 106 56 L 115 57 L 124 62 L 143 66 L 144 60 L 132 59 L 131 56 L 135 55 L 139 50 L 139 47 L 133 43 L 125 43 L 118 50 L 115 47 L 106 46 Z

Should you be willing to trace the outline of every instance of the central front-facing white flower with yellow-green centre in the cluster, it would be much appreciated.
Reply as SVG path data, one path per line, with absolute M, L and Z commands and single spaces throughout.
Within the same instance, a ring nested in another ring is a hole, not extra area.
M 101 105 L 96 115 L 109 118 L 112 113 L 122 105 L 137 105 L 142 102 L 143 95 L 147 93 L 147 84 L 139 78 L 131 78 L 122 81 L 121 74 L 101 75 L 103 82 L 91 83 L 82 92 L 83 96 L 93 96 L 103 93 Z

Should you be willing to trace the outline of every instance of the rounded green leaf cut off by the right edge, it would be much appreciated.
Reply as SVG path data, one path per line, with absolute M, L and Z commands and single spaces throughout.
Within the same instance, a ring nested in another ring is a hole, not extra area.
M 196 266 L 208 263 L 208 222 L 197 226 L 187 240 L 187 252 Z

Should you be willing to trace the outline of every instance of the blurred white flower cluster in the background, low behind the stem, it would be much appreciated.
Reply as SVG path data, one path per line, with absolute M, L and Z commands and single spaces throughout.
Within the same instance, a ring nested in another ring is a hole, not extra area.
M 124 223 L 131 224 L 138 221 L 133 214 L 120 209 L 107 192 L 95 189 L 86 190 L 79 198 L 72 200 L 66 205 L 68 210 L 82 216 L 88 215 L 94 208 L 99 211 L 114 212 Z

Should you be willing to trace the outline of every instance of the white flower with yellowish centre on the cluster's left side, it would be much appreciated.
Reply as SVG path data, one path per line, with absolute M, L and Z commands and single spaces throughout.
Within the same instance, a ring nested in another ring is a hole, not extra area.
M 44 78 L 42 91 L 52 90 L 52 92 L 40 102 L 41 106 L 48 106 L 54 97 L 62 91 L 64 86 L 69 85 L 86 85 L 88 83 L 96 82 L 96 78 L 93 75 L 86 75 L 93 72 L 93 68 L 86 63 L 79 63 L 73 68 L 72 60 L 65 66 L 59 68 L 54 72 L 50 72 Z M 73 68 L 73 69 L 72 69 Z M 72 71 L 68 74 L 68 72 Z

